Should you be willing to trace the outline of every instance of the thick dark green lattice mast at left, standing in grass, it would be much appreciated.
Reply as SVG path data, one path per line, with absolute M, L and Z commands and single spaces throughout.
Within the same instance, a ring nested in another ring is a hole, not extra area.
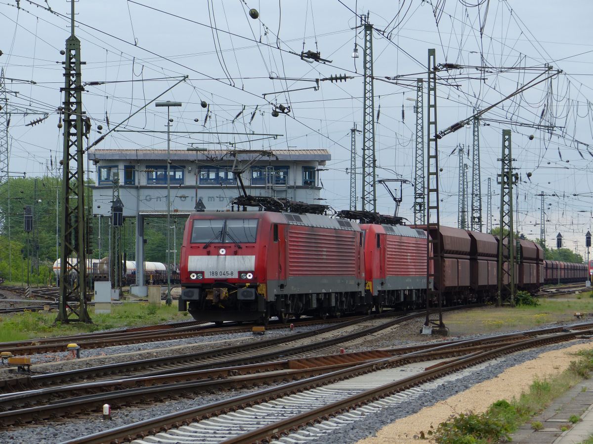
M 62 214 L 60 300 L 56 321 L 90 322 L 87 312 L 87 255 L 84 207 L 84 150 L 80 40 L 74 35 L 74 0 L 71 0 L 71 35 L 66 40 L 63 102 Z

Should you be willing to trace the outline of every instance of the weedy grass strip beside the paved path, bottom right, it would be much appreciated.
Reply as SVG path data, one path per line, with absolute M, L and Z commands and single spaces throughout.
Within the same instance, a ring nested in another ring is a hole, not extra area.
M 420 433 L 420 437 L 431 436 L 439 444 L 487 444 L 501 439 L 509 440 L 510 434 L 528 422 L 531 417 L 550 405 L 554 398 L 565 393 L 570 387 L 587 378 L 593 371 L 593 350 L 578 353 L 579 358 L 572 361 L 569 368 L 559 375 L 546 379 L 535 379 L 527 392 L 523 392 L 511 402 L 500 400 L 492 404 L 484 413 L 454 414 L 436 429 Z M 573 415 L 570 424 L 581 418 Z M 568 429 L 566 423 L 562 429 Z M 541 430 L 543 424 L 531 422 L 531 428 Z M 593 440 L 586 441 L 593 444 Z

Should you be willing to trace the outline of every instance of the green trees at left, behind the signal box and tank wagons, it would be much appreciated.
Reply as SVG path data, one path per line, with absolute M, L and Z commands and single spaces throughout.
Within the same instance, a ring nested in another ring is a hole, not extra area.
M 93 185 L 89 182 L 87 185 Z M 92 205 L 93 190 L 85 187 L 85 204 Z M 12 282 L 47 284 L 53 274 L 53 263 L 59 257 L 62 205 L 62 181 L 53 176 L 38 178 L 9 178 L 0 185 L 0 277 Z M 24 231 L 24 208 L 33 208 L 33 231 Z M 56 219 L 57 215 L 57 219 Z M 175 225 L 174 225 L 175 223 Z M 173 218 L 172 250 L 181 250 L 185 220 Z M 109 255 L 109 217 L 91 217 L 89 258 L 101 259 Z M 145 260 L 166 262 L 167 221 L 165 218 L 146 218 L 144 227 Z M 56 231 L 57 230 L 57 231 Z M 136 218 L 125 218 L 121 230 L 122 255 L 135 260 Z M 56 233 L 58 236 L 56 236 Z M 175 236 L 174 236 L 175 234 Z M 56 254 L 57 253 L 57 254 Z M 171 255 L 173 261 L 173 255 Z

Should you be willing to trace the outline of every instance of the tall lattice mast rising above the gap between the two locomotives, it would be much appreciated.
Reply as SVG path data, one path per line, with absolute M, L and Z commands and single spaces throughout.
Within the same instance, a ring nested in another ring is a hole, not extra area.
M 372 25 L 369 16 L 361 18 L 365 48 L 362 59 L 364 65 L 364 98 L 362 101 L 362 210 L 377 211 L 377 187 L 375 186 L 375 99 L 373 96 L 372 70 Z

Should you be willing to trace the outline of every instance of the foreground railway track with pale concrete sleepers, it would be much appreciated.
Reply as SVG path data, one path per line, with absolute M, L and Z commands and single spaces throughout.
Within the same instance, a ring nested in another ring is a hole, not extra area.
M 355 421 L 368 411 L 413 396 L 422 384 L 468 374 L 473 366 L 518 350 L 575 339 L 584 332 L 593 332 L 591 327 L 582 324 L 580 328 L 588 330 L 543 329 L 522 335 L 493 336 L 490 342 L 477 339 L 420 350 L 401 349 L 403 354 L 365 359 L 341 368 L 329 366 L 320 375 L 83 436 L 69 443 L 144 444 L 178 442 L 178 439 L 205 442 L 206 437 L 208 442 L 225 443 L 302 442 L 313 434 L 311 429 L 321 434 L 324 429 Z M 334 420 L 315 427 L 329 418 Z M 307 430 L 302 430 L 304 427 Z M 289 435 L 288 440 L 283 439 L 284 435 Z

